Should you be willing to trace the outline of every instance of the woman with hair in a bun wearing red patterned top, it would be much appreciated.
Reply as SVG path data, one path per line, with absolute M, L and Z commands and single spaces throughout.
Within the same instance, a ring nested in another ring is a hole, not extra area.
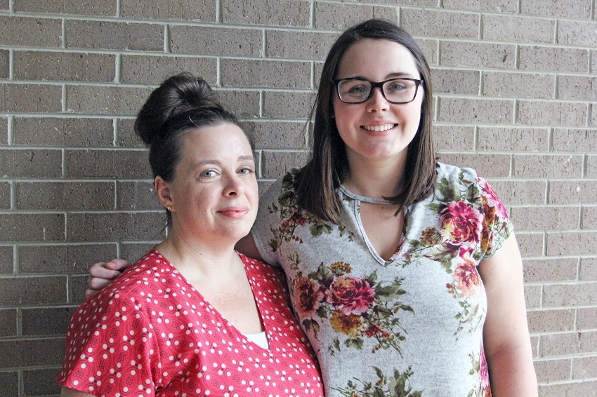
M 63 396 L 322 396 L 280 271 L 234 250 L 257 214 L 253 148 L 209 85 L 156 88 L 150 147 L 169 234 L 72 317 Z

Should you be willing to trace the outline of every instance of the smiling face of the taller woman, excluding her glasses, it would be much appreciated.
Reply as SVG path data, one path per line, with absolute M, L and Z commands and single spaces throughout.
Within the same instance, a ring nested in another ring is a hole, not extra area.
M 399 43 L 384 39 L 363 39 L 343 54 L 335 79 L 359 77 L 385 81 L 397 77 L 421 79 L 414 57 Z M 390 160 L 404 162 L 407 147 L 421 121 L 424 89 L 414 101 L 396 105 L 388 102 L 381 88 L 374 88 L 368 100 L 358 104 L 341 102 L 333 94 L 336 128 L 346 145 L 348 162 Z

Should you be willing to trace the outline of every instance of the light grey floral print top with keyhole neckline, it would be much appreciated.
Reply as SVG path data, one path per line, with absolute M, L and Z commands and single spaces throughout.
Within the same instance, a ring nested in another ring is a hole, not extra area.
M 287 275 L 292 307 L 327 396 L 490 396 L 487 300 L 477 270 L 511 234 L 494 190 L 438 163 L 435 194 L 405 209 L 397 255 L 383 260 L 360 220 L 376 202 L 341 187 L 341 224 L 299 210 L 296 171 L 261 197 L 251 233 Z

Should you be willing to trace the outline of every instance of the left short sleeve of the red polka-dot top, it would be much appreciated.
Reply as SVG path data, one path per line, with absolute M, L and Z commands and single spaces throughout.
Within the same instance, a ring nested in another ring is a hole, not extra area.
M 155 396 L 159 352 L 147 313 L 131 297 L 96 295 L 72 317 L 58 383 L 96 396 Z

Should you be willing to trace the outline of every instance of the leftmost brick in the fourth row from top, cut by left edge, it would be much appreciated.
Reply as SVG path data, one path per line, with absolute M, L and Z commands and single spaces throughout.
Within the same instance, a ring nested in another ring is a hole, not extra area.
M 44 113 L 62 110 L 60 86 L 0 84 L 0 112 Z

